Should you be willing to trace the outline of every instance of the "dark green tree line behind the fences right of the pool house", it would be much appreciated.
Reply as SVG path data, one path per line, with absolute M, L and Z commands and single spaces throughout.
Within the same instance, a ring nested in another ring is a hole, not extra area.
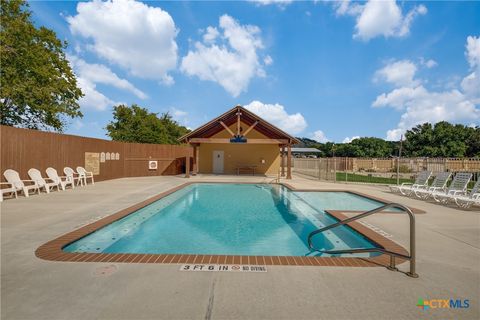
M 299 138 L 299 146 L 313 147 L 327 157 L 388 158 L 398 155 L 400 143 L 380 138 L 364 137 L 350 143 L 320 143 Z M 442 121 L 424 123 L 405 133 L 404 157 L 480 157 L 480 127 L 468 127 Z

